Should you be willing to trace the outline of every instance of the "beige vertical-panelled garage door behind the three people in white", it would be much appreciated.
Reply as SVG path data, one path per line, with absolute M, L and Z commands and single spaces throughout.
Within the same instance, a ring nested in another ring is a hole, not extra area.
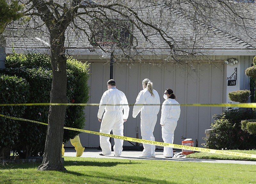
M 89 61 L 90 62 L 90 61 Z M 106 83 L 109 80 L 109 63 L 102 61 L 92 62 L 90 66 L 91 78 L 88 81 L 91 86 L 91 98 L 88 103 L 99 103 Z M 127 66 L 126 63 L 114 65 L 114 77 L 117 89 L 123 91 L 129 104 L 134 104 L 136 97 L 142 89 L 142 80 L 149 78 L 153 81 L 154 89 L 159 93 L 161 103 L 164 101 L 163 93 L 166 88 L 171 88 L 177 96 L 180 104 L 211 104 L 223 103 L 226 98 L 226 80 L 224 77 L 224 63 L 222 60 L 207 62 L 194 62 L 193 68 L 189 65 L 148 64 L 136 63 Z M 224 85 L 225 84 L 225 85 Z M 224 98 L 224 99 L 223 99 Z M 136 137 L 140 135 L 140 115 L 132 118 L 133 106 L 127 122 L 124 123 L 124 136 Z M 196 107 L 181 106 L 180 119 L 175 130 L 174 144 L 181 144 L 181 136 L 198 140 L 198 146 L 204 142 L 204 130 L 210 128 L 213 123 L 212 116 L 220 114 L 221 107 Z M 85 107 L 86 130 L 99 131 L 100 122 L 97 119 L 98 106 Z M 160 126 L 161 108 L 158 114 L 154 135 L 156 141 L 162 142 Z M 86 147 L 99 147 L 99 136 L 81 133 L 81 143 Z M 113 144 L 112 140 L 112 144 Z M 133 143 L 135 144 L 135 143 Z M 127 141 L 124 145 L 132 146 Z M 162 148 L 162 147 L 159 147 Z

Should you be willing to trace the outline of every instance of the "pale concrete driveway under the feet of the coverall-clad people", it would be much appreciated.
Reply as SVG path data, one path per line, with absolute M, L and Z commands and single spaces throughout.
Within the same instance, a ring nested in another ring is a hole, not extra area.
M 100 156 L 101 150 L 95 148 L 85 148 L 81 157 L 89 158 L 116 158 L 116 159 L 140 159 L 140 160 L 170 160 L 170 161 L 185 161 L 185 162 L 208 162 L 208 163 L 231 163 L 231 164 L 248 164 L 256 165 L 256 161 L 240 161 L 240 160 L 208 160 L 194 158 L 165 158 L 163 150 L 156 150 L 156 158 L 140 158 L 141 151 L 122 151 L 121 157 L 115 157 L 112 151 L 111 155 Z M 65 148 L 64 156 L 76 157 L 75 148 Z M 65 160 L 65 158 L 64 158 Z

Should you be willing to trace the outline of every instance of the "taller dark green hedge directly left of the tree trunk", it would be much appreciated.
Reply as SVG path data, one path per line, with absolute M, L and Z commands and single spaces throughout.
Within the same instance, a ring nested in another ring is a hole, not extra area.
M 26 79 L 31 86 L 27 103 L 47 103 L 50 98 L 52 72 L 49 69 L 26 67 L 6 68 L 1 71 L 8 75 L 17 75 Z M 24 119 L 46 122 L 48 120 L 49 106 L 27 106 L 22 117 Z M 27 121 L 20 122 L 19 141 L 16 143 L 15 151 L 22 158 L 28 158 L 42 154 L 44 151 L 46 126 Z

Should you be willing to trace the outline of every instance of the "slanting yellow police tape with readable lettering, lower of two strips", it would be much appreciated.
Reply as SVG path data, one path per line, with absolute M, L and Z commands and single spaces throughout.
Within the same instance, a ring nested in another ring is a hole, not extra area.
M 14 120 L 28 121 L 28 122 L 48 125 L 47 123 L 42 123 L 39 121 L 27 120 L 27 119 L 23 119 L 23 118 L 16 118 L 16 117 L 6 116 L 6 115 L 2 115 L 2 114 L 0 114 L 0 116 L 9 118 L 9 119 L 14 119 Z M 89 133 L 89 134 L 99 135 L 99 136 L 123 139 L 125 141 L 132 141 L 132 142 L 136 142 L 136 143 L 151 144 L 151 145 L 155 145 L 155 146 L 166 146 L 166 147 L 180 149 L 180 150 L 189 150 L 189 151 L 198 151 L 198 152 L 205 152 L 205 153 L 215 153 L 215 154 L 221 154 L 221 155 L 256 158 L 255 154 L 247 154 L 247 153 L 224 151 L 224 150 L 213 150 L 213 149 L 208 149 L 208 148 L 199 148 L 199 147 L 179 145 L 179 144 L 169 144 L 169 143 L 163 143 L 163 142 L 157 142 L 157 141 L 148 141 L 148 140 L 137 139 L 137 138 L 132 138 L 132 137 L 116 136 L 116 135 L 112 135 L 112 134 L 104 134 L 104 133 L 100 133 L 100 132 L 94 132 L 94 131 L 83 130 L 83 129 L 75 129 L 75 128 L 69 128 L 69 127 L 63 127 L 63 128 L 68 129 L 68 130 L 75 130 L 75 131 L 85 132 L 85 133 Z

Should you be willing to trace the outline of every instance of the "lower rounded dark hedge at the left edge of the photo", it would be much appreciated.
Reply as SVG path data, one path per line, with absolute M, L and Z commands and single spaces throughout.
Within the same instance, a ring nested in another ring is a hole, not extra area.
M 29 84 L 25 79 L 0 75 L 0 100 L 2 104 L 26 103 L 29 97 Z M 7 116 L 21 117 L 25 112 L 24 106 L 1 106 L 0 112 Z M 0 117 L 0 150 L 12 148 L 18 140 L 20 122 Z M 0 157 L 2 153 L 0 151 Z

